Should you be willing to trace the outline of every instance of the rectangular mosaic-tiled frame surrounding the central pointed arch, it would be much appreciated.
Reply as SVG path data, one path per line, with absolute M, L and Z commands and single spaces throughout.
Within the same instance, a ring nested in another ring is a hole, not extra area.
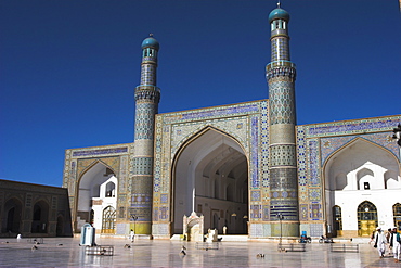
M 262 115 L 260 116 L 262 112 Z M 261 181 L 261 158 L 269 156 L 268 141 L 268 101 L 240 103 L 219 107 L 200 109 L 189 112 L 178 112 L 156 115 L 155 123 L 155 163 L 154 163 L 154 214 L 155 221 L 169 221 L 171 196 L 171 164 L 180 148 L 193 137 L 208 128 L 222 131 L 233 137 L 248 155 L 249 183 L 259 189 Z M 257 116 L 255 116 L 257 115 Z M 262 130 L 261 130 L 262 129 Z M 261 132 L 263 137 L 261 137 Z M 262 146 L 260 143 L 264 142 Z M 262 150 L 264 149 L 263 153 Z M 254 151 L 253 151 L 254 150 Z M 253 158 L 254 157 L 254 158 Z M 268 174 L 263 173 L 263 176 Z M 254 179 L 253 179 L 254 178 Z M 269 177 L 263 177 L 269 181 Z M 268 191 L 269 192 L 269 191 Z M 157 195 L 158 194 L 158 195 Z M 249 195 L 251 195 L 249 193 Z M 163 196 L 163 197 L 161 197 Z M 264 194 L 263 196 L 269 196 Z M 262 195 L 260 191 L 254 193 L 254 213 L 249 220 L 261 219 Z M 168 203 L 164 203 L 168 200 Z M 166 206 L 160 206 L 164 203 Z M 269 210 L 267 210 L 269 212 Z M 156 234 L 156 233 L 155 233 Z

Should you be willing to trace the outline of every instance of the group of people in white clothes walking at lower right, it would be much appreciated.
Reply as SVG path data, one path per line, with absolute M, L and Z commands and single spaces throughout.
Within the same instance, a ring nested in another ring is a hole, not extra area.
M 388 244 L 389 251 L 394 256 L 394 261 L 399 263 L 401 257 L 401 235 L 397 232 L 397 228 L 388 229 L 385 233 L 380 227 L 377 227 L 376 233 L 372 234 L 372 242 L 374 247 L 377 248 L 380 258 L 385 256 L 386 245 Z

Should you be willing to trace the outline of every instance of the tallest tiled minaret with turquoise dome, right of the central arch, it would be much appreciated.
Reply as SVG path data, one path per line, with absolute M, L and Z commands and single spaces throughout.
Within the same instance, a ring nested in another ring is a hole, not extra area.
M 270 115 L 271 234 L 298 237 L 298 183 L 295 146 L 295 64 L 289 59 L 289 14 L 279 7 L 269 15 L 271 62 L 266 67 Z M 282 222 L 282 225 L 280 224 Z

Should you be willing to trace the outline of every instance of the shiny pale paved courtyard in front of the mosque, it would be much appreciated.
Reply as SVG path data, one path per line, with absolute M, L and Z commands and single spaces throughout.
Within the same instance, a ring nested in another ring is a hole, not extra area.
M 197 250 L 195 242 L 98 238 L 113 245 L 113 256 L 87 255 L 79 238 L 44 238 L 31 250 L 28 239 L 0 239 L 0 267 L 400 267 L 387 256 L 379 259 L 367 243 L 359 253 L 331 252 L 329 244 L 307 244 L 306 252 L 279 252 L 277 243 L 221 242 L 218 250 Z M 125 247 L 130 244 L 131 247 Z M 339 245 L 340 243 L 335 243 Z M 185 256 L 180 255 L 181 246 Z M 258 258 L 257 254 L 264 254 Z

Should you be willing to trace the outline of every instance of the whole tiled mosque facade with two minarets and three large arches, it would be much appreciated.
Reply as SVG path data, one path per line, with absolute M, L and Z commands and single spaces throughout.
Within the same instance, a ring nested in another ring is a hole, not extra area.
M 269 99 L 158 113 L 159 43 L 142 42 L 134 142 L 65 151 L 72 224 L 170 239 L 183 218 L 249 239 L 401 230 L 401 115 L 297 125 L 289 14 L 269 15 Z

